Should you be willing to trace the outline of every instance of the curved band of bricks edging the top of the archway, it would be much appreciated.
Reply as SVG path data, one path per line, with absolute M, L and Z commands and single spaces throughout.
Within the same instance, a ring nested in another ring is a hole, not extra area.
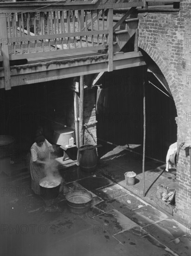
M 158 54 L 157 49 L 153 48 L 151 44 L 148 42 L 145 42 L 142 39 L 139 39 L 139 47 L 143 49 L 150 57 L 151 59 L 157 64 L 159 69 L 161 70 L 162 74 L 164 75 L 168 86 L 170 88 L 170 91 L 172 93 L 172 97 L 175 102 L 175 106 L 177 109 L 177 114 L 178 114 L 178 86 L 177 82 L 175 81 L 171 70 L 167 66 L 166 62 L 163 60 L 163 58 Z

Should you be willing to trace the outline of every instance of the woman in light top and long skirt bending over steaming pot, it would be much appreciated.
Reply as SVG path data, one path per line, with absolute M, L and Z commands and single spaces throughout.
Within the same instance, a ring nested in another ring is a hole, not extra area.
M 50 153 L 54 149 L 43 135 L 38 135 L 31 147 L 31 183 L 35 194 L 40 194 L 39 180 L 45 177 L 45 169 L 49 167 Z

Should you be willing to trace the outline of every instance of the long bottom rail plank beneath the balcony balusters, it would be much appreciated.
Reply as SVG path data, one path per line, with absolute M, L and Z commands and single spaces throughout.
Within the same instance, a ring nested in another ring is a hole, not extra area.
M 30 59 L 30 58 L 35 58 L 35 57 L 56 57 L 56 56 L 62 56 L 62 54 L 74 54 L 75 53 L 84 53 L 87 51 L 98 51 L 98 50 L 103 50 L 107 49 L 107 46 L 105 45 L 96 45 L 96 46 L 90 46 L 90 47 L 82 47 L 82 48 L 70 48 L 70 49 L 60 49 L 60 50 L 54 50 L 50 52 L 37 52 L 37 53 L 30 53 L 30 54 L 9 54 L 9 58 L 11 61 L 13 60 L 22 60 L 22 59 Z

